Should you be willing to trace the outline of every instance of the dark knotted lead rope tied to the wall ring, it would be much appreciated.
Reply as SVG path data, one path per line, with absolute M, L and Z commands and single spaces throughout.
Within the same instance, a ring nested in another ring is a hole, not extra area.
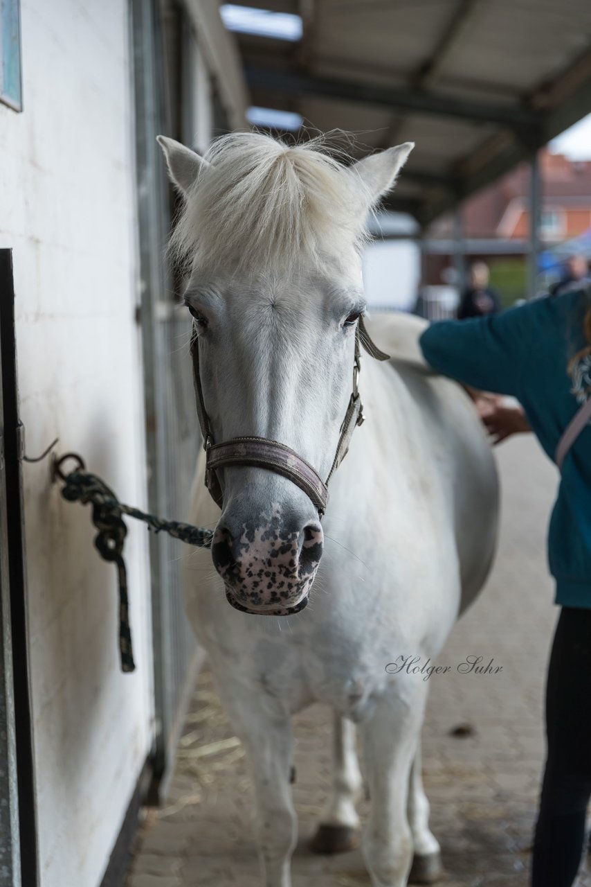
M 74 460 L 76 467 L 65 474 L 62 467 L 67 460 Z M 92 522 L 97 528 L 95 547 L 104 561 L 112 561 L 117 568 L 121 671 L 135 671 L 129 627 L 128 575 L 123 559 L 123 546 L 128 528 L 121 515 L 127 514 L 137 521 L 144 521 L 148 524 L 148 530 L 154 533 L 164 530 L 169 536 L 198 548 L 210 548 L 213 533 L 205 527 L 192 527 L 189 523 L 164 521 L 155 514 L 147 514 L 139 508 L 125 505 L 119 501 L 105 481 L 86 470 L 84 460 L 77 453 L 68 452 L 59 459 L 54 458 L 52 476 L 54 480 L 58 478 L 64 484 L 61 495 L 67 502 L 92 505 Z

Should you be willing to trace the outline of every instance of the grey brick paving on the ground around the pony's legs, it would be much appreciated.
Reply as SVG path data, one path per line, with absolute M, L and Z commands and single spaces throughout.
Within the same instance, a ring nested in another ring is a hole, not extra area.
M 424 783 L 445 887 L 526 887 L 543 758 L 542 687 L 557 613 L 545 536 L 556 470 L 526 437 L 497 452 L 499 556 L 485 593 L 455 626 L 439 661 L 478 654 L 502 671 L 433 676 L 424 726 Z M 452 734 L 458 726 L 467 735 Z M 330 785 L 329 711 L 317 705 L 300 714 L 295 735 L 293 887 L 369 887 L 359 850 L 323 858 L 307 849 Z M 365 802 L 361 812 L 363 819 Z M 260 887 L 245 759 L 203 671 L 167 806 L 144 812 L 126 887 L 234 884 Z M 591 887 L 591 867 L 577 887 Z

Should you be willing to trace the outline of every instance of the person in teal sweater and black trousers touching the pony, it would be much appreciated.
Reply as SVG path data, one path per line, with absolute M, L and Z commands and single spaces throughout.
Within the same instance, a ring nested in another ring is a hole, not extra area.
M 531 429 L 554 459 L 564 429 L 591 396 L 591 287 L 492 317 L 434 323 L 420 344 L 439 373 L 517 398 L 519 407 L 487 401 L 483 420 L 496 442 Z M 548 665 L 548 754 L 531 883 L 572 887 L 591 797 L 591 424 L 564 459 L 548 562 L 561 612 Z

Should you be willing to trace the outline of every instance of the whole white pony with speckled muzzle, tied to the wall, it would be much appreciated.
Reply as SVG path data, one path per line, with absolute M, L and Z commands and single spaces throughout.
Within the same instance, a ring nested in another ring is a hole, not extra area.
M 292 465 L 306 459 L 325 479 L 352 403 L 365 220 L 413 145 L 347 167 L 315 143 L 256 133 L 222 137 L 205 159 L 159 142 L 184 196 L 173 247 L 191 264 L 202 426 L 219 443 L 284 444 Z M 434 659 L 478 593 L 498 493 L 470 399 L 421 363 L 423 327 L 394 315 L 373 327 L 393 359 L 363 357 L 367 421 L 330 479 L 322 522 L 297 476 L 253 462 L 215 472 L 220 512 L 203 483 L 205 453 L 199 460 L 191 521 L 216 526 L 217 573 L 207 552 L 187 559 L 186 608 L 250 761 L 266 887 L 291 883 L 291 718 L 315 700 L 335 711 L 334 785 L 316 849 L 346 848 L 359 824 L 356 724 L 372 883 L 403 887 L 411 867 L 424 883 L 439 875 L 419 750 L 429 684 L 388 666 Z

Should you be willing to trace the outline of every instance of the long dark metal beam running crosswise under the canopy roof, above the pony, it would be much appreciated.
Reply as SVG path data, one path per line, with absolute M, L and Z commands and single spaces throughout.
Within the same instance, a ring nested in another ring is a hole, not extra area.
M 486 105 L 458 98 L 432 95 L 422 90 L 397 89 L 381 84 L 346 81 L 295 71 L 278 71 L 271 67 L 245 66 L 248 85 L 285 95 L 336 98 L 365 105 L 388 107 L 391 110 L 413 111 L 451 117 L 474 123 L 492 123 L 497 126 L 518 129 L 538 129 L 541 114 L 531 108 L 515 105 Z

